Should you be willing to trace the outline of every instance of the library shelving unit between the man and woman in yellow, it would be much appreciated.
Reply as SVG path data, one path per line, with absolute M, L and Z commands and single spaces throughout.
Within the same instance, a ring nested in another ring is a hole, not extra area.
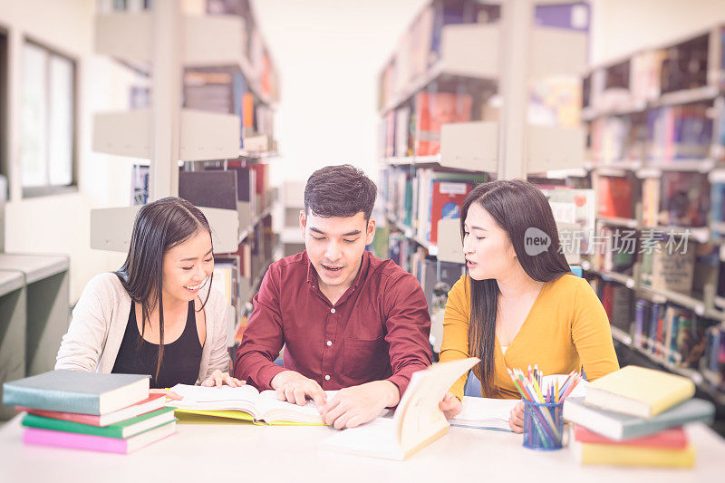
M 565 13 L 552 23 L 552 4 L 431 1 L 382 68 L 378 216 L 387 224 L 373 251 L 419 278 L 434 349 L 443 285 L 465 273 L 455 218 L 469 190 L 584 170 L 585 130 L 527 113 L 530 82 L 569 76 L 578 90 L 586 68 L 588 5 L 556 2 Z

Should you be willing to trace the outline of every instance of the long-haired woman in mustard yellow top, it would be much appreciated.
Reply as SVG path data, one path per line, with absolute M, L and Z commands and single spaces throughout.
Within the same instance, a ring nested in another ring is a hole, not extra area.
M 538 364 L 545 374 L 583 367 L 588 380 L 619 369 L 609 320 L 592 287 L 571 274 L 551 207 L 527 181 L 474 188 L 460 212 L 469 275 L 449 292 L 440 361 L 480 358 L 473 372 L 488 398 L 518 399 L 507 368 Z M 440 408 L 461 410 L 466 376 Z M 509 425 L 521 432 L 523 402 Z

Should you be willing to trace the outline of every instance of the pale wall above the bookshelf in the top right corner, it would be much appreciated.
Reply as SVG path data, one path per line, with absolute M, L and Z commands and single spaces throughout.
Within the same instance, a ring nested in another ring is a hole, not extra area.
M 594 0 L 592 63 L 725 23 L 723 0 Z

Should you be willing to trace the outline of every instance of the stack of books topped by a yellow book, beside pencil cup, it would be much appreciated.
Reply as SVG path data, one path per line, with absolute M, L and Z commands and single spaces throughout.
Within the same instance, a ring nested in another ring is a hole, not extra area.
M 631 365 L 568 398 L 564 418 L 575 423 L 583 464 L 691 468 L 695 449 L 682 425 L 715 416 L 694 393 L 688 378 Z

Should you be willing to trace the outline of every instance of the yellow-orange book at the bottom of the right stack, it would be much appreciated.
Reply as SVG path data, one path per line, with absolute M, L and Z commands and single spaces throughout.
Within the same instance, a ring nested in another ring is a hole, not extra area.
M 663 449 L 582 443 L 582 464 L 692 468 L 695 448 L 692 444 L 685 449 Z

